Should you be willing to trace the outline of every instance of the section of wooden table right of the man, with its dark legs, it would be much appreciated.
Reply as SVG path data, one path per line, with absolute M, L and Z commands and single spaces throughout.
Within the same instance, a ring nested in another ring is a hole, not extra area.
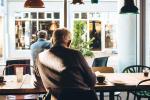
M 105 84 L 96 84 L 95 91 L 100 92 L 100 100 L 104 100 L 104 92 L 109 92 L 109 99 L 114 100 L 114 92 L 116 91 L 137 91 L 150 90 L 150 82 L 137 87 L 138 83 L 145 77 L 143 73 L 100 73 L 106 77 Z

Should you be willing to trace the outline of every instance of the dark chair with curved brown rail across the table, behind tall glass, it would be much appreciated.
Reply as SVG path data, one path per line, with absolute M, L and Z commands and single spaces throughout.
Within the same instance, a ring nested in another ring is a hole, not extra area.
M 31 74 L 30 59 L 7 60 L 3 75 L 16 75 L 16 68 L 23 67 L 23 75 Z M 38 95 L 7 95 L 8 100 L 37 100 Z

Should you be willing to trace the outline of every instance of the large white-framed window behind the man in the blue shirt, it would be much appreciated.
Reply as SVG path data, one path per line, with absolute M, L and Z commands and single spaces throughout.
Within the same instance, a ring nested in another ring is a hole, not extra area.
M 37 32 L 46 30 L 50 40 L 54 29 L 60 27 L 59 12 L 16 12 L 15 14 L 15 47 L 29 49 L 37 40 Z

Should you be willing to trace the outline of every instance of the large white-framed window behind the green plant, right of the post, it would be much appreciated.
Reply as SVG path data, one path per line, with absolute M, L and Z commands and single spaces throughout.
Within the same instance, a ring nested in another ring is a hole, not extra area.
M 116 16 L 115 12 L 75 12 L 74 22 L 87 23 L 83 38 L 85 41 L 94 38 L 92 50 L 116 48 Z

